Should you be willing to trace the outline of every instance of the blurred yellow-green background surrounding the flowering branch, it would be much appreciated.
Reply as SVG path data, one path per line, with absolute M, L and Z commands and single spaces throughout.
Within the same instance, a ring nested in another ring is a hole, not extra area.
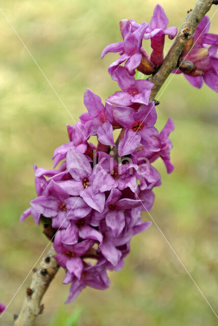
M 159 0 L 170 25 L 177 28 L 195 2 Z M 85 112 L 87 87 L 103 100 L 118 89 L 107 73 L 117 54 L 100 60 L 100 53 L 107 44 L 121 40 L 120 19 L 149 22 L 156 4 L 152 0 L 0 3 L 75 120 Z M 212 32 L 217 32 L 216 18 Z M 0 301 L 7 304 L 47 245 L 31 217 L 19 223 L 35 197 L 33 164 L 52 167 L 53 150 L 68 141 L 65 124 L 74 122 L 1 11 L 0 29 Z M 167 40 L 166 49 L 170 44 Z M 167 175 L 162 162 L 156 164 L 162 186 L 155 189 L 151 214 L 217 312 L 217 94 L 206 86 L 195 89 L 176 75 L 159 100 L 158 127 L 169 116 L 176 125 L 171 137 L 175 171 Z M 150 220 L 146 213 L 144 220 Z M 132 240 L 125 268 L 110 274 L 110 289 L 87 288 L 74 303 L 64 305 L 69 286 L 62 285 L 63 278 L 60 270 L 43 298 L 45 310 L 36 326 L 216 324 L 212 310 L 154 224 Z M 13 323 L 29 284 L 30 277 L 0 319 L 4 326 Z M 73 321 L 67 321 L 72 314 Z

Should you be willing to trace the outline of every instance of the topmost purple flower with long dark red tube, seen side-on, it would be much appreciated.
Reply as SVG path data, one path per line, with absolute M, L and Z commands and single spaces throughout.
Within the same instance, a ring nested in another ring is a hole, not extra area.
M 163 62 L 163 47 L 165 44 L 165 35 L 169 35 L 172 40 L 177 34 L 176 27 L 169 27 L 168 18 L 165 11 L 160 5 L 156 5 L 154 8 L 154 15 L 151 17 L 150 24 L 146 30 L 144 39 L 151 39 L 151 47 L 153 49 L 151 53 L 151 62 L 156 66 L 160 66 Z

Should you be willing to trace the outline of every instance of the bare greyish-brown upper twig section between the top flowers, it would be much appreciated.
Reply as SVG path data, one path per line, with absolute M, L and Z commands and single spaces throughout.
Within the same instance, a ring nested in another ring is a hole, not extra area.
M 169 76 L 169 74 L 176 68 L 179 56 L 188 42 L 193 36 L 198 24 L 206 13 L 210 10 L 213 0 L 199 0 L 195 8 L 190 11 L 185 19 L 182 27 L 171 46 L 162 66 L 149 80 L 154 83 L 151 91 L 150 100 L 155 98 L 155 95 Z

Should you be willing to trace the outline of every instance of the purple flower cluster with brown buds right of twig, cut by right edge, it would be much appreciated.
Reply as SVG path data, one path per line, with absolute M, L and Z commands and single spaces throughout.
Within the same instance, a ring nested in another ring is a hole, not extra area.
M 204 16 L 193 38 L 182 51 L 180 68 L 176 73 L 184 76 L 193 86 L 201 88 L 203 83 L 218 92 L 218 35 L 208 33 L 210 19 Z

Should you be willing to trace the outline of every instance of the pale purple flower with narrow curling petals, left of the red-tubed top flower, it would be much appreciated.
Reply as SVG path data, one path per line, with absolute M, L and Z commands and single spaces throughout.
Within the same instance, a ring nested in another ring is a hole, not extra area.
M 145 21 L 139 28 L 133 29 L 131 21 L 121 20 L 120 30 L 123 41 L 107 45 L 101 53 L 101 58 L 103 58 L 108 52 L 120 52 L 120 58 L 113 62 L 108 68 L 110 74 L 112 74 L 124 61 L 125 68 L 128 72 L 134 74 L 134 70 L 139 66 L 142 59 L 141 46 L 147 28 L 148 23 Z

